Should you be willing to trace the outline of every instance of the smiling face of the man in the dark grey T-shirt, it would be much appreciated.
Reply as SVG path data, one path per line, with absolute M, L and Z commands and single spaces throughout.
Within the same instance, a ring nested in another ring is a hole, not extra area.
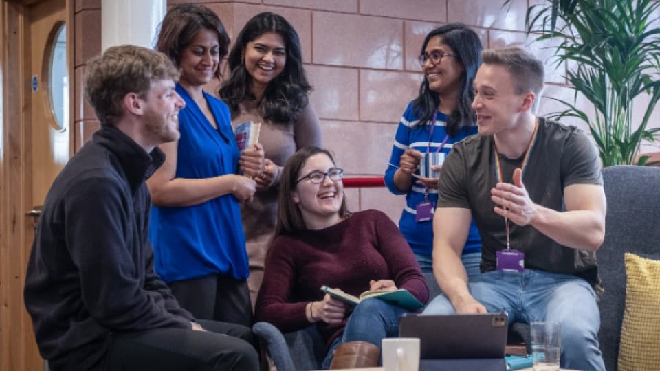
M 533 93 L 516 93 L 513 76 L 504 65 L 482 64 L 474 78 L 472 101 L 479 134 L 493 135 L 514 128 L 518 116 L 529 106 L 526 100 L 533 102 Z

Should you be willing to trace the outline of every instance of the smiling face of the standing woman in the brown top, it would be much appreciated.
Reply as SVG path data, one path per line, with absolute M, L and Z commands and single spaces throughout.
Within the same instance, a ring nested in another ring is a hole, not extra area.
M 244 51 L 245 69 L 252 77 L 252 87 L 263 91 L 284 70 L 287 48 L 280 34 L 266 32 L 250 41 Z

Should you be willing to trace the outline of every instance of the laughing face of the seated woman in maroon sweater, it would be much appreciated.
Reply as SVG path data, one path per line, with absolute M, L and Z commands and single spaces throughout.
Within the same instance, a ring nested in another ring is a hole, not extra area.
M 313 155 L 305 161 L 305 166 L 298 172 L 296 179 L 303 178 L 311 172 L 328 172 L 335 164 L 325 153 Z M 331 181 L 325 177 L 322 183 L 314 184 L 309 177 L 301 180 L 292 192 L 294 203 L 300 207 L 305 225 L 309 229 L 322 229 L 339 223 L 339 214 L 344 201 L 344 183 Z

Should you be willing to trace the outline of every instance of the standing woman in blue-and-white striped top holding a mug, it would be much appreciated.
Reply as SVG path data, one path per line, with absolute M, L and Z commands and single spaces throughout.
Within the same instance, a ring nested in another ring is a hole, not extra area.
M 401 117 L 385 172 L 389 190 L 406 195 L 399 229 L 423 273 L 433 271 L 432 210 L 438 199 L 438 178 L 421 177 L 418 166 L 426 153 L 449 153 L 453 143 L 476 133 L 470 104 L 482 49 L 477 34 L 460 23 L 443 25 L 426 35 L 419 56 L 425 78 L 419 96 Z M 481 239 L 474 223 L 462 257 L 468 275 L 478 274 Z

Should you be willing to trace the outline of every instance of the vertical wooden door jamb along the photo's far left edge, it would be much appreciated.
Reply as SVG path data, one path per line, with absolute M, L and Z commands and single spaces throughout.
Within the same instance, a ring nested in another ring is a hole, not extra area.
M 29 97 L 25 83 L 21 76 L 25 75 L 28 47 L 27 27 L 28 12 L 24 5 L 2 1 L 2 30 L 0 43 L 2 45 L 2 154 L 0 159 L 0 214 L 2 234 L 0 246 L 0 369 L 2 370 L 29 370 L 23 355 L 28 346 L 29 336 L 21 330 L 21 326 L 30 318 L 28 313 L 17 310 L 20 308 L 12 300 L 20 297 L 21 284 L 25 282 L 25 246 L 26 220 L 23 217 L 25 210 L 26 192 L 21 183 L 25 183 L 28 176 L 25 169 L 29 165 L 28 153 L 25 153 L 25 139 L 30 137 L 26 123 L 30 120 L 30 112 L 25 107 Z M 18 108 L 18 109 L 17 109 Z M 27 133 L 26 133 L 27 132 Z M 27 136 L 26 136 L 27 135 Z M 33 341 L 33 340 L 32 340 Z M 29 347 L 29 346 L 28 346 Z M 27 357 L 26 357 L 27 358 Z M 32 368 L 34 370 L 34 368 Z

